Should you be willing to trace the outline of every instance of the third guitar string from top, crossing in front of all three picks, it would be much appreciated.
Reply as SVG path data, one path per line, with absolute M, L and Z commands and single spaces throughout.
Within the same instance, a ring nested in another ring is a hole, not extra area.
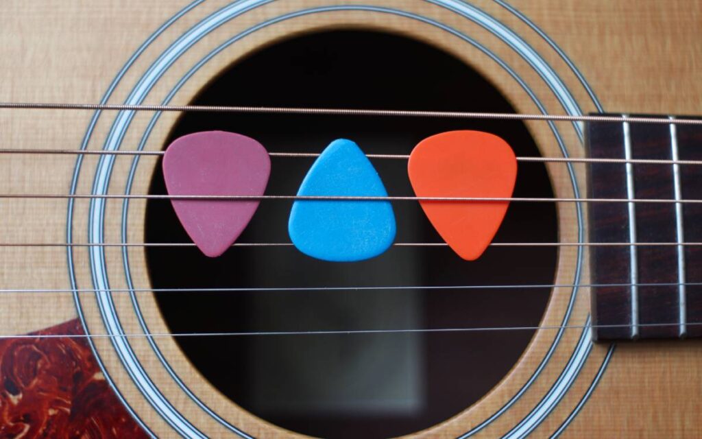
M 654 203 L 702 204 L 702 199 L 665 198 L 548 198 L 548 197 L 365 197 L 356 195 L 144 195 L 144 194 L 0 194 L 7 199 L 192 199 L 221 201 L 431 201 L 431 202 L 573 202 L 573 203 Z

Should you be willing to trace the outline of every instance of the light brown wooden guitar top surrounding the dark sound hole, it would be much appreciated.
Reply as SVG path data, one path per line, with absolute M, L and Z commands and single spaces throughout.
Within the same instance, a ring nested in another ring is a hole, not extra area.
M 559 100 L 526 60 L 484 27 L 447 8 L 420 0 L 371 0 L 366 2 L 395 8 L 442 22 L 484 44 L 505 60 L 534 90 L 548 112 L 563 114 Z M 587 91 L 558 53 L 522 20 L 494 1 L 470 0 L 500 20 L 527 42 L 552 67 L 573 94 L 583 112 L 595 111 Z M 0 5 L 0 100 L 12 102 L 98 103 L 128 57 L 154 30 L 183 8 L 185 1 L 14 1 Z M 173 23 L 148 46 L 126 72 L 109 103 L 122 103 L 144 72 L 160 53 L 207 15 L 223 8 L 227 1 L 206 1 Z M 274 1 L 239 15 L 208 34 L 185 55 L 178 58 L 147 95 L 145 103 L 160 103 L 171 87 L 208 51 L 236 32 L 268 18 L 312 6 L 343 5 L 333 0 Z M 702 3 L 689 0 L 654 1 L 515 1 L 514 6 L 533 20 L 573 61 L 602 105 L 613 112 L 702 114 Z M 425 22 L 373 11 L 332 11 L 305 15 L 263 28 L 229 46 L 201 67 L 178 91 L 173 104 L 186 104 L 218 72 L 251 51 L 291 34 L 333 27 L 377 29 L 421 39 L 464 60 L 489 78 L 519 112 L 534 113 L 538 108 L 512 77 L 475 47 Z M 137 112 L 122 142 L 131 149 L 140 140 L 152 114 Z M 93 112 L 56 110 L 0 110 L 0 148 L 79 148 Z M 117 113 L 106 112 L 95 126 L 88 148 L 100 149 Z M 161 150 L 178 114 L 164 113 L 148 139 L 147 150 Z M 573 124 L 559 123 L 569 155 L 583 157 L 584 151 Z M 543 122 L 529 122 L 531 134 L 544 156 L 561 155 L 555 138 Z M 74 157 L 0 156 L 0 192 L 67 192 L 74 169 Z M 91 191 L 96 157 L 87 157 L 77 192 Z M 133 193 L 147 193 L 156 159 L 140 160 Z M 130 162 L 117 159 L 110 192 L 121 193 Z M 581 192 L 585 192 L 585 168 L 576 165 Z M 558 197 L 572 197 L 574 189 L 564 166 L 550 164 L 548 171 Z M 84 242 L 88 202 L 77 201 L 72 230 L 76 241 Z M 128 216 L 131 242 L 143 242 L 145 202 L 134 200 Z M 107 202 L 105 242 L 118 242 L 121 202 Z M 66 200 L 8 199 L 0 202 L 2 242 L 65 242 Z M 576 212 L 573 204 L 559 204 L 559 238 L 576 240 Z M 126 288 L 119 249 L 106 249 L 107 271 L 112 288 Z M 136 288 L 149 288 L 143 249 L 129 250 Z M 576 250 L 564 247 L 559 253 L 555 284 L 568 284 L 574 278 Z M 88 251 L 74 251 L 79 287 L 91 288 Z M 587 258 L 585 258 L 587 261 Z M 69 289 L 68 267 L 63 248 L 0 247 L 0 288 Z M 587 265 L 582 282 L 588 283 Z M 126 294 L 115 294 L 121 324 L 127 333 L 141 333 L 133 305 Z M 544 326 L 560 325 L 569 296 L 555 290 L 542 321 Z M 584 325 L 589 313 L 588 291 L 577 296 L 569 325 Z M 88 327 L 104 333 L 105 327 L 94 295 L 84 293 L 81 305 Z M 139 305 L 154 333 L 168 332 L 155 300 L 140 294 Z M 71 294 L 4 293 L 0 296 L 2 334 L 22 334 L 75 318 Z M 529 416 L 567 367 L 582 329 L 567 329 L 538 379 L 522 398 L 484 428 L 480 435 L 496 437 L 508 433 Z M 472 407 L 466 407 L 444 423 L 416 437 L 456 437 L 480 424 L 505 405 L 534 374 L 555 337 L 553 330 L 541 330 L 527 352 L 508 376 L 491 393 Z M 178 388 L 157 360 L 145 337 L 130 339 L 136 355 L 154 384 L 178 412 L 211 437 L 231 432 L 204 414 Z M 230 424 L 261 438 L 290 437 L 294 434 L 272 426 L 239 409 L 221 395 L 185 359 L 172 339 L 155 342 L 174 372 L 188 388 Z M 96 339 L 95 346 L 107 371 L 150 428 L 162 437 L 175 431 L 164 422 L 139 389 L 108 339 Z M 547 437 L 567 419 L 583 399 L 607 355 L 609 346 L 594 345 L 583 369 L 555 408 L 538 425 L 535 437 Z M 564 431 L 569 437 L 687 437 L 702 435 L 702 344 L 645 343 L 616 348 L 609 366 L 578 416 Z

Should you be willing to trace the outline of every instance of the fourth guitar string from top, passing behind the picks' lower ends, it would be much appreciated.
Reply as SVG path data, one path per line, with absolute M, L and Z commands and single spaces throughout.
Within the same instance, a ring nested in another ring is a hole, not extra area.
M 395 242 L 395 247 L 448 247 L 446 242 Z M 702 242 L 491 242 L 489 247 L 698 247 Z M 0 242 L 0 247 L 197 247 L 194 242 Z M 292 242 L 234 242 L 230 247 L 293 247 Z

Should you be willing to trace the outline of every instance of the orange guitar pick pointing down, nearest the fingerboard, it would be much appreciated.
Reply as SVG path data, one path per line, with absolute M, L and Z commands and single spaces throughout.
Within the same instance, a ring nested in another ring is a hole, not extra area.
M 422 140 L 407 166 L 417 197 L 512 196 L 517 158 L 505 140 L 481 131 L 449 131 Z M 509 202 L 420 201 L 439 235 L 473 261 L 490 244 Z

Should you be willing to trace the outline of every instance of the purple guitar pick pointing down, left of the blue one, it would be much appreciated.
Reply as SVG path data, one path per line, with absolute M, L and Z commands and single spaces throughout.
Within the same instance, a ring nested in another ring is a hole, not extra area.
M 163 167 L 168 195 L 263 195 L 270 157 L 252 138 L 204 131 L 173 140 Z M 259 202 L 171 199 L 171 203 L 197 248 L 215 257 L 237 240 Z

